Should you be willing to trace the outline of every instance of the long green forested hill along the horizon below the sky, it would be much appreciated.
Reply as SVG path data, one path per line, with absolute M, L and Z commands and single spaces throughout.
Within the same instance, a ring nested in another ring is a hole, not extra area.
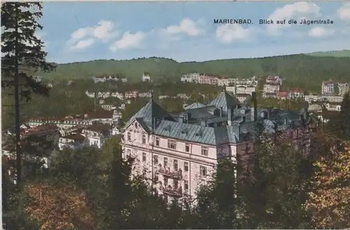
M 253 75 L 276 74 L 286 79 L 290 87 L 320 88 L 321 81 L 349 81 L 350 57 L 315 57 L 284 55 L 249 59 L 211 60 L 207 62 L 176 62 L 150 57 L 133 60 L 94 60 L 58 65 L 55 72 L 41 74 L 49 79 L 76 79 L 103 74 L 123 74 L 139 81 L 143 72 L 151 73 L 155 81 L 180 79 L 189 72 L 218 74 L 227 78 L 246 78 Z

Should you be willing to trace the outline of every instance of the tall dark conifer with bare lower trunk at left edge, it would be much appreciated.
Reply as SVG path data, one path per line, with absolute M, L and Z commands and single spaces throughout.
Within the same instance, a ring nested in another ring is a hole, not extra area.
M 54 67 L 45 61 L 47 53 L 43 51 L 43 42 L 36 37 L 36 29 L 43 27 L 38 23 L 41 18 L 39 3 L 10 3 L 1 5 L 1 88 L 14 88 L 15 129 L 18 184 L 21 182 L 20 147 L 20 96 L 30 100 L 31 92 L 48 95 L 48 88 L 34 80 L 30 72 L 41 69 L 51 71 Z

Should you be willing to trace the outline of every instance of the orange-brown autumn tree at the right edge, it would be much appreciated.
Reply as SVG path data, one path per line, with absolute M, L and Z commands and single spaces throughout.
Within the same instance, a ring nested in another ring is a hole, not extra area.
M 329 149 L 316 163 L 307 208 L 320 229 L 344 229 L 350 226 L 350 142 L 340 151 Z

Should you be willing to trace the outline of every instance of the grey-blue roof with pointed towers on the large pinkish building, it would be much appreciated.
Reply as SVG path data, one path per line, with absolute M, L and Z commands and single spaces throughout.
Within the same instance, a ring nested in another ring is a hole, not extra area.
M 237 144 L 242 140 L 244 133 L 254 135 L 256 123 L 254 122 L 253 107 L 242 106 L 237 109 L 235 98 L 227 95 L 226 92 L 221 93 L 215 100 L 209 103 L 210 106 L 198 107 L 197 109 L 187 109 L 186 113 L 197 116 L 197 119 L 204 116 L 211 116 L 203 119 L 208 123 L 227 121 L 226 116 L 214 116 L 214 111 L 224 107 L 226 109 L 233 108 L 232 126 L 208 127 L 201 126 L 200 123 L 183 123 L 182 119 L 176 121 L 172 115 L 162 109 L 157 102 L 150 100 L 143 108 L 141 108 L 128 124 L 132 121 L 138 121 L 140 126 L 150 133 L 152 130 L 152 118 L 154 121 L 155 135 L 168 137 L 175 140 L 183 140 L 185 142 L 197 142 L 208 145 L 221 144 Z M 269 119 L 261 118 L 260 115 L 269 112 Z M 245 117 L 245 122 L 243 121 Z M 258 120 L 265 127 L 265 132 L 274 133 L 273 127 L 278 125 L 277 130 L 284 130 L 290 127 L 290 123 L 297 127 L 301 125 L 300 114 L 297 111 L 286 111 L 283 109 L 267 109 L 258 108 Z M 293 121 L 293 122 L 292 122 Z

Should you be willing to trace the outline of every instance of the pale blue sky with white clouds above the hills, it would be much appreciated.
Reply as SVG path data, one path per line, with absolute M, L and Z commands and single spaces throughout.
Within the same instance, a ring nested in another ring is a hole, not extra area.
M 250 19 L 250 25 L 214 19 Z M 259 20 L 274 20 L 260 25 Z M 286 19 L 286 25 L 276 20 Z M 297 20 L 289 25 L 288 20 Z M 332 20 L 328 25 L 299 21 Z M 343 2 L 45 2 L 48 60 L 167 57 L 179 62 L 350 49 L 350 3 Z

